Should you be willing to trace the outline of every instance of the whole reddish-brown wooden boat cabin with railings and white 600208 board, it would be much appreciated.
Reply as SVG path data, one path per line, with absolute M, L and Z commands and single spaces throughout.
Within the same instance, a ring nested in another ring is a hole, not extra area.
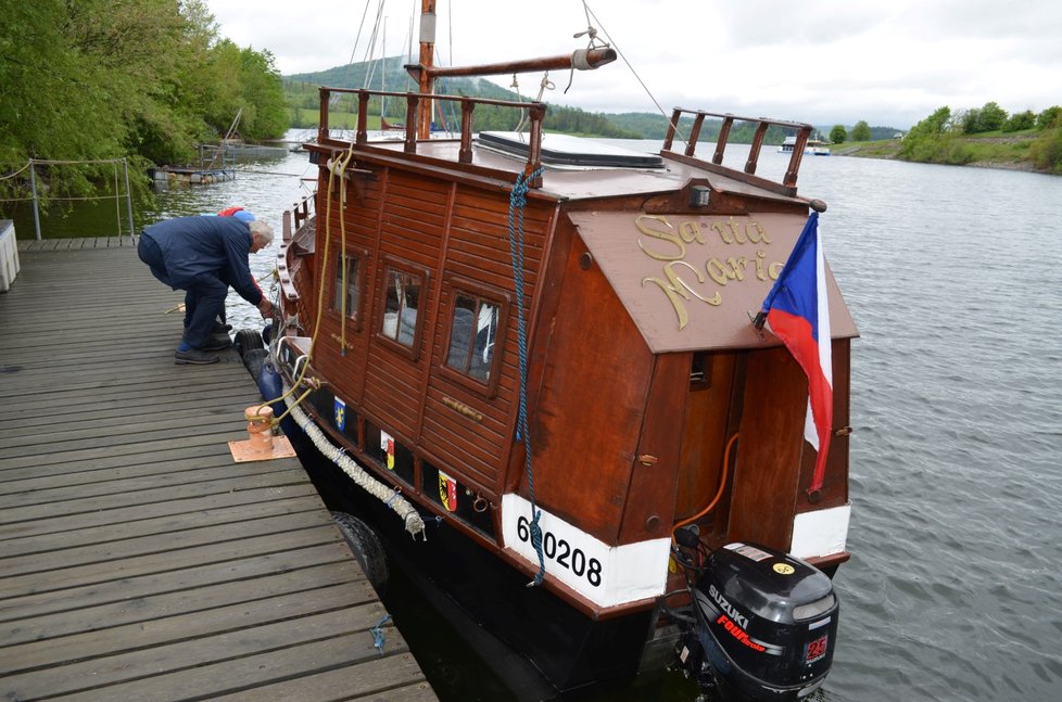
M 336 139 L 323 110 L 306 146 L 316 218 L 280 253 L 281 331 L 299 349 L 287 381 L 304 357 L 305 409 L 336 445 L 528 578 L 533 492 L 543 587 L 589 621 L 654 611 L 684 586 L 683 523 L 708 549 L 844 561 L 852 320 L 831 277 L 835 436 L 811 496 L 807 380 L 750 322 L 812 204 L 796 190 L 810 126 L 753 119 L 737 169 L 722 165 L 733 115 L 677 110 L 694 119 L 686 143 L 672 129 L 659 154 L 636 154 L 543 135 L 538 103 L 528 133 L 473 138 L 476 106 L 504 103 L 467 98 L 435 98 L 462 109 L 458 138 L 417 139 L 426 97 L 401 97 L 403 141 L 370 142 L 364 122 Z M 724 129 L 704 159 L 711 117 Z M 755 174 L 771 124 L 800 142 L 781 182 Z

